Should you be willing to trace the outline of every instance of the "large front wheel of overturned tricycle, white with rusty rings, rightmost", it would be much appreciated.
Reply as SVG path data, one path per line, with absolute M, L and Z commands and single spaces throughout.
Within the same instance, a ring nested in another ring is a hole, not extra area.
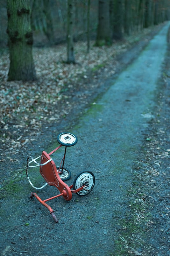
M 83 172 L 80 172 L 75 177 L 74 182 L 73 182 L 73 189 L 74 190 L 76 190 L 78 188 L 81 188 L 84 185 L 85 185 L 84 189 L 77 192 L 76 193 L 77 195 L 86 196 L 92 191 L 92 189 L 95 185 L 95 175 L 93 174 L 93 172 L 83 171 Z

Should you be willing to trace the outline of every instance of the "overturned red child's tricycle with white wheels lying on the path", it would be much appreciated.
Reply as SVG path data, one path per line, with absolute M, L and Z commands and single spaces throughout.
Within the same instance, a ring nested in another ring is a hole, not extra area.
M 59 146 L 55 148 L 53 151 L 50 153 L 46 153 L 46 151 L 42 152 L 41 156 L 38 156 L 37 158 L 33 158 L 32 156 L 27 157 L 27 167 L 26 167 L 26 176 L 31 184 L 31 186 L 35 189 L 42 189 L 44 188 L 47 184 L 50 186 L 55 186 L 58 188 L 60 194 L 47 198 L 45 200 L 42 200 L 36 193 L 32 192 L 31 193 L 31 198 L 35 196 L 41 204 L 43 204 L 49 211 L 50 214 L 52 215 L 54 221 L 57 223 L 58 220 L 54 214 L 53 209 L 46 204 L 47 201 L 54 199 L 59 196 L 63 196 L 65 200 L 69 201 L 72 198 L 72 193 L 76 193 L 79 196 L 85 196 L 89 194 L 94 185 L 95 185 L 95 176 L 93 172 L 90 171 L 83 171 L 80 172 L 74 179 L 73 185 L 68 186 L 64 181 L 69 180 L 71 178 L 71 172 L 64 168 L 64 161 L 65 161 L 65 156 L 66 156 L 66 149 L 67 147 L 74 146 L 77 143 L 77 137 L 68 132 L 60 133 L 57 136 L 57 141 L 59 142 Z M 51 158 L 51 155 L 57 151 L 59 148 L 62 146 L 65 146 L 65 151 L 64 151 L 64 156 L 60 162 L 60 165 L 56 167 L 53 159 Z M 29 159 L 32 159 L 29 162 Z M 41 158 L 40 163 L 38 163 L 36 160 Z M 31 165 L 31 164 L 36 164 L 36 165 Z M 39 172 L 42 175 L 42 177 L 46 180 L 46 183 L 40 187 L 34 187 L 32 184 L 29 176 L 28 176 L 28 168 L 33 168 L 39 166 Z

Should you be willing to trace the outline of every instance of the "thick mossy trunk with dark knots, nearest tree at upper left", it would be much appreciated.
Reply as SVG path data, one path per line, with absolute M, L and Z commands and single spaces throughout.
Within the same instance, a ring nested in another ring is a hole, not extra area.
M 7 34 L 10 52 L 8 81 L 35 80 L 30 1 L 7 0 L 7 15 Z

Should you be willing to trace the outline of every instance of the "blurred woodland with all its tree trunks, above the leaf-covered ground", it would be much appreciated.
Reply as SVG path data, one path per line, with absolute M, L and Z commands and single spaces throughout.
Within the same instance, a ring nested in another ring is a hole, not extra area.
M 74 42 L 86 41 L 89 53 L 91 39 L 95 46 L 109 46 L 169 16 L 168 0 L 1 1 L 0 44 L 9 47 L 8 80 L 36 80 L 32 45 L 67 41 L 66 62 L 75 64 Z

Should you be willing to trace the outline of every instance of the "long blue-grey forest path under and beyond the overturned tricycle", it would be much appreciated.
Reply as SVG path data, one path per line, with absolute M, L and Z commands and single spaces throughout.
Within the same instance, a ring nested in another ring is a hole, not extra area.
M 53 200 L 50 205 L 59 219 L 55 224 L 35 198 L 30 200 L 30 184 L 18 182 L 17 192 L 1 200 L 1 255 L 126 255 L 118 237 L 128 221 L 133 164 L 156 115 L 155 95 L 168 27 L 169 23 L 68 131 L 77 135 L 78 143 L 67 152 L 65 166 L 72 172 L 67 184 L 73 183 L 78 172 L 89 170 L 96 176 L 93 191 L 84 197 L 73 195 L 69 202 Z M 55 147 L 53 142 L 50 148 Z M 53 159 L 57 163 L 60 155 L 54 154 Z M 48 186 L 37 194 L 46 198 L 55 192 Z M 146 255 L 136 249 L 129 253 Z

